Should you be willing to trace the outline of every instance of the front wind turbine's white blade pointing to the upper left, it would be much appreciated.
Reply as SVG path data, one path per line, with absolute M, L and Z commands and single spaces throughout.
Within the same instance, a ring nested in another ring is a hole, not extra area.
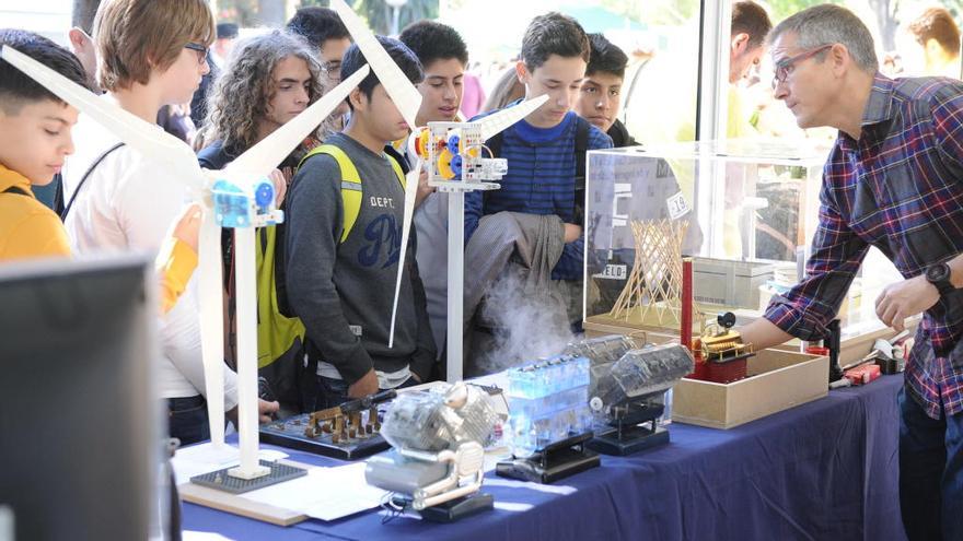
M 195 189 L 202 189 L 205 176 L 194 151 L 156 125 L 144 121 L 117 105 L 94 95 L 33 58 L 4 45 L 0 57 L 27 74 L 57 97 L 89 115 L 126 144 L 149 158 L 161 162 L 171 176 Z

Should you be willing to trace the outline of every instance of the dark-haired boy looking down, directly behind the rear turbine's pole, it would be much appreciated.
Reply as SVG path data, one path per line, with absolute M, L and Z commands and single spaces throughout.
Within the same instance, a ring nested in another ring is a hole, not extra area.
M 454 121 L 468 63 L 468 48 L 462 36 L 451 26 L 419 21 L 405 28 L 398 40 L 415 52 L 425 70 L 425 80 L 417 85 L 421 93 L 421 108 L 415 118 L 418 126 Z M 411 166 L 413 157 L 408 156 Z M 432 190 L 422 173 L 414 219 L 418 235 L 415 256 L 428 298 L 434 344 L 442 356 L 448 330 L 448 195 Z

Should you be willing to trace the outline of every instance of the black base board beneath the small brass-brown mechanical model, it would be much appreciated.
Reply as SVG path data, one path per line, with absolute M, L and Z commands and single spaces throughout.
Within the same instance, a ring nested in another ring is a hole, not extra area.
M 317 437 L 304 435 L 310 414 L 294 415 L 281 421 L 271 421 L 260 425 L 260 440 L 289 449 L 297 449 L 312 455 L 337 458 L 341 460 L 357 460 L 370 457 L 391 447 L 381 437 L 381 434 L 372 434 L 366 437 L 356 437 L 337 444 L 332 443 L 330 434 L 322 434 Z

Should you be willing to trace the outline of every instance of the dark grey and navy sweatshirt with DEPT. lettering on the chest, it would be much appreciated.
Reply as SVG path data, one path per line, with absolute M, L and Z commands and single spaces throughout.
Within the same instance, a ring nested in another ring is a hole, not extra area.
M 405 258 L 394 348 L 387 348 L 405 192 L 384 154 L 344 133 L 325 143 L 345 151 L 355 164 L 363 197 L 357 222 L 339 244 L 345 211 L 337 162 L 326 154 L 312 156 L 291 183 L 287 294 L 308 330 L 308 353 L 334 365 L 349 385 L 372 367 L 392 373 L 405 365 L 425 381 L 436 349 L 414 239 Z

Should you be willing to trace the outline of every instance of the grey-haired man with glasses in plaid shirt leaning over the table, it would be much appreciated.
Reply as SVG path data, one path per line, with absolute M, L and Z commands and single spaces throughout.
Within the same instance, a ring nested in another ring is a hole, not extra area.
M 807 278 L 742 329 L 764 349 L 817 340 L 870 246 L 905 280 L 877 315 L 923 313 L 900 392 L 900 499 L 910 540 L 963 539 L 963 83 L 892 80 L 851 12 L 808 9 L 769 35 L 775 95 L 800 128 L 839 136 L 820 195 Z

